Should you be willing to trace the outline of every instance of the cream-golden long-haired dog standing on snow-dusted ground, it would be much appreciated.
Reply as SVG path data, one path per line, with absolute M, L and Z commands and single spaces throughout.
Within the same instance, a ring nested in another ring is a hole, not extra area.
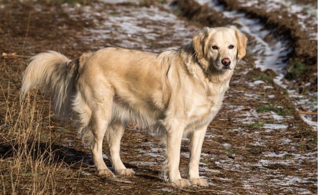
M 58 116 L 77 116 L 98 175 L 114 177 L 102 158 L 104 136 L 115 173 L 134 175 L 119 151 L 127 122 L 135 122 L 161 135 L 164 180 L 180 188 L 207 186 L 199 176 L 203 140 L 246 42 L 235 26 L 204 27 L 190 44 L 160 54 L 109 47 L 69 60 L 55 51 L 39 53 L 24 72 L 20 98 L 42 85 Z M 182 136 L 189 138 L 187 179 L 179 172 Z

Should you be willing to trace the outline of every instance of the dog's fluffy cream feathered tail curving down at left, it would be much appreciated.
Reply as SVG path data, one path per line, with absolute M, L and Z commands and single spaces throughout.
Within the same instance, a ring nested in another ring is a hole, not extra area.
M 22 80 L 20 100 L 35 86 L 43 86 L 51 95 L 58 116 L 71 114 L 72 96 L 79 61 L 71 61 L 55 51 L 39 53 L 30 59 Z

